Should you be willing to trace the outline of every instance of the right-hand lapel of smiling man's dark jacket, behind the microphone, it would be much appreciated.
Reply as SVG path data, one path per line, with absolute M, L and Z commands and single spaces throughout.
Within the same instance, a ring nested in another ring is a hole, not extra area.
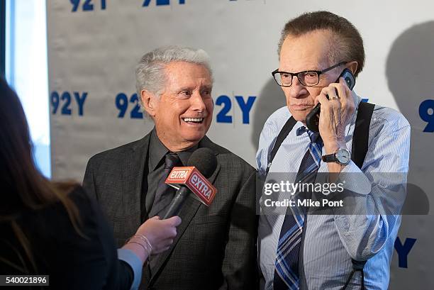
M 199 148 L 201 148 L 201 147 L 209 147 L 211 150 L 213 150 L 213 143 L 211 142 L 211 140 L 209 140 L 205 136 L 199 142 Z M 216 150 L 213 150 L 213 152 L 216 155 L 218 155 L 218 152 L 216 152 Z M 214 170 L 211 177 L 208 178 L 209 182 L 214 184 L 214 182 L 216 181 L 216 177 L 218 175 L 218 172 L 220 172 L 220 169 L 221 169 L 221 164 L 218 163 L 216 170 Z M 218 194 L 218 192 L 217 192 L 217 194 Z M 177 237 L 174 239 L 173 244 L 169 248 L 169 250 L 162 252 L 160 255 L 155 257 L 155 259 L 157 259 L 157 263 L 156 263 L 155 269 L 152 270 L 153 274 L 152 274 L 152 278 L 151 278 L 150 283 L 152 283 L 152 281 L 154 281 L 156 279 L 156 277 L 158 276 L 160 270 L 162 269 L 162 266 L 165 264 L 167 258 L 170 256 L 170 254 L 172 254 L 174 247 L 176 247 L 177 243 L 179 242 L 179 239 L 182 237 L 185 230 L 187 230 L 187 227 L 189 226 L 189 224 L 191 223 L 191 220 L 196 215 L 196 212 L 199 210 L 199 207 L 201 206 L 201 204 L 202 203 L 200 201 L 196 200 L 191 195 L 185 201 L 184 205 L 182 206 L 182 210 L 179 213 L 179 217 L 182 219 L 182 223 L 177 228 L 177 232 L 178 232 Z

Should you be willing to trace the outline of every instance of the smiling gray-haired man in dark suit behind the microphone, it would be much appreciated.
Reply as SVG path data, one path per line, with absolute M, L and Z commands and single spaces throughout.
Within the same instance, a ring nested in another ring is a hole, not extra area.
M 136 69 L 140 101 L 155 122 L 141 140 L 101 152 L 87 164 L 83 185 L 109 216 L 118 245 L 152 216 L 164 216 L 174 190 L 164 184 L 197 148 L 218 166 L 209 208 L 189 196 L 172 246 L 151 257 L 143 289 L 254 289 L 255 169 L 206 137 L 213 79 L 204 50 L 167 47 L 147 53 Z

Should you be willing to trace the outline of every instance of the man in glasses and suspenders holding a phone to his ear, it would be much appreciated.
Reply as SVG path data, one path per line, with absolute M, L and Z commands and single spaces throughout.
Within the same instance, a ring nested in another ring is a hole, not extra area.
M 360 105 L 362 99 L 347 85 L 352 80 L 340 77 L 348 70 L 357 77 L 365 62 L 360 33 L 347 19 L 327 11 L 304 13 L 286 23 L 278 51 L 273 76 L 286 106 L 262 130 L 260 178 L 294 172 L 295 178 L 287 175 L 289 182 L 301 184 L 323 174 L 327 182 L 344 181 L 340 197 L 352 207 L 308 214 L 312 207 L 291 204 L 283 213 L 269 214 L 261 200 L 261 289 L 387 289 L 405 198 L 408 121 L 391 108 Z M 317 104 L 321 113 L 308 126 L 306 117 Z M 363 126 L 365 133 L 355 138 Z M 362 274 L 353 275 L 357 269 Z

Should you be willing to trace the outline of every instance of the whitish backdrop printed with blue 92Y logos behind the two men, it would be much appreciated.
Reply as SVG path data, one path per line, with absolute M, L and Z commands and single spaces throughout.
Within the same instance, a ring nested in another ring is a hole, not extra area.
M 82 180 L 89 157 L 142 138 L 135 65 L 162 45 L 211 56 L 214 107 L 208 137 L 255 166 L 260 130 L 284 95 L 270 72 L 284 23 L 305 11 L 349 19 L 365 40 L 366 66 L 355 91 L 404 113 L 412 126 L 408 205 L 433 201 L 434 3 L 293 0 L 50 0 L 48 59 L 52 177 Z M 144 5 L 145 4 L 145 5 Z M 252 104 L 250 111 L 239 102 Z M 425 130 L 425 131 L 424 131 Z M 404 216 L 390 289 L 431 289 L 434 218 Z M 325 265 L 324 265 L 325 267 Z

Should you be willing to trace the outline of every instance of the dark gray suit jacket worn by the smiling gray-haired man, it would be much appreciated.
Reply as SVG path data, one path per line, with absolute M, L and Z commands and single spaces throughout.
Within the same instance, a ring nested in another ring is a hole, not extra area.
M 140 226 L 149 140 L 150 134 L 101 152 L 87 164 L 83 186 L 109 217 L 119 247 Z M 209 181 L 218 192 L 209 208 L 189 196 L 172 247 L 157 257 L 152 277 L 149 268 L 143 271 L 143 289 L 256 287 L 255 169 L 206 136 L 199 147 L 216 154 L 218 166 Z

